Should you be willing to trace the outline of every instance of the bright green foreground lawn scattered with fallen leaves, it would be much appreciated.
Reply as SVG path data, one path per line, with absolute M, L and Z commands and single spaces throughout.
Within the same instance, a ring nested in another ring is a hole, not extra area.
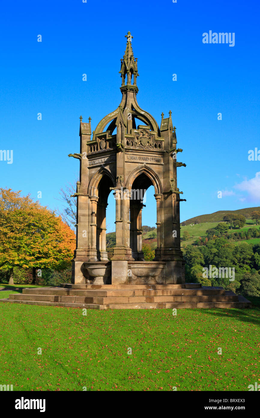
M 34 391 L 247 391 L 260 380 L 259 319 L 256 306 L 83 316 L 79 308 L 0 303 L 0 384 Z

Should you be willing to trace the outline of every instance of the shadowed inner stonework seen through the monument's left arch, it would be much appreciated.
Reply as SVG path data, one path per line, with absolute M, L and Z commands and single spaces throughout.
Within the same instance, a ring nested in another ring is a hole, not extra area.
M 98 183 L 98 201 L 96 206 L 96 250 L 98 261 L 108 261 L 106 252 L 106 208 L 113 183 L 109 176 L 103 175 Z

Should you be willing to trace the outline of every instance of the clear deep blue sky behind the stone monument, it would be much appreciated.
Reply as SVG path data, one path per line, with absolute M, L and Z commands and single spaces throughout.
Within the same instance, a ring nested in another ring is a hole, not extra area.
M 259 8 L 257 0 L 2 4 L 0 149 L 13 150 L 13 163 L 0 161 L 1 186 L 35 199 L 41 191 L 41 204 L 59 205 L 59 189 L 78 175 L 68 154 L 79 152 L 79 116 L 91 116 L 94 130 L 121 101 L 118 72 L 131 31 L 139 105 L 158 124 L 172 110 L 178 159 L 187 164 L 177 169 L 187 199 L 181 220 L 260 206 L 260 162 L 248 161 L 249 150 L 260 150 Z M 209 31 L 235 33 L 235 46 L 202 43 Z M 153 226 L 150 189 L 143 223 Z

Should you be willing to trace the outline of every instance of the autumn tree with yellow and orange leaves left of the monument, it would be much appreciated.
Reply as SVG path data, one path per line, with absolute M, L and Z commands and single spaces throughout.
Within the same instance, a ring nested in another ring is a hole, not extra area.
M 73 257 L 75 233 L 55 212 L 20 191 L 0 188 L 0 270 L 62 269 Z

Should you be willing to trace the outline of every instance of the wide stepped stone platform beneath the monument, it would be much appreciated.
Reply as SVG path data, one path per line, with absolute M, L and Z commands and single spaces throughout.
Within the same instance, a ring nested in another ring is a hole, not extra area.
M 222 287 L 198 283 L 163 285 L 61 284 L 24 288 L 0 302 L 87 309 L 250 308 L 251 302 Z

